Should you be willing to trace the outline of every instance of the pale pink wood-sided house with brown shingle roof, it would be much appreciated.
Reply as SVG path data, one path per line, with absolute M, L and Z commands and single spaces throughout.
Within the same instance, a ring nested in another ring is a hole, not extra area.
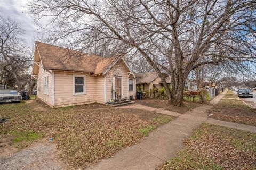
M 122 57 L 102 57 L 35 43 L 32 77 L 37 97 L 51 107 L 106 104 L 136 94 L 135 75 Z

